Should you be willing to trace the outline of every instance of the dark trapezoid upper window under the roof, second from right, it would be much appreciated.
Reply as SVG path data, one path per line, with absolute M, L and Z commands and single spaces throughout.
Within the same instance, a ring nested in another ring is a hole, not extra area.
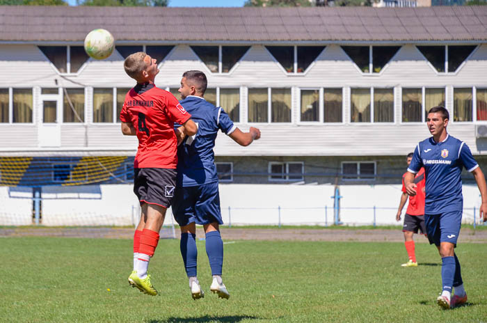
M 399 46 L 342 46 L 344 52 L 364 73 L 378 73 L 389 63 Z M 372 55 L 371 55 L 372 54 Z

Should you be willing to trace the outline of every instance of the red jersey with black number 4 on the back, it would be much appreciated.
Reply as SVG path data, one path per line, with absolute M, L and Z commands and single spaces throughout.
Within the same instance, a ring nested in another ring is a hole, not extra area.
M 177 139 L 174 123 L 182 125 L 191 114 L 166 90 L 154 84 L 137 84 L 125 95 L 120 120 L 136 129 L 135 168 L 176 168 Z

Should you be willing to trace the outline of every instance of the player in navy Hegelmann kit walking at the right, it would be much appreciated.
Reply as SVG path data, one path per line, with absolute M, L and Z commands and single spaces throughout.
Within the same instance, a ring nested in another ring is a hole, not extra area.
M 428 112 L 427 125 L 431 138 L 417 144 L 413 160 L 404 178 L 406 191 L 416 194 L 415 173 L 424 167 L 426 200 L 424 221 L 429 243 L 435 244 L 442 259 L 442 293 L 438 305 L 453 308 L 467 301 L 463 288 L 460 262 L 454 252 L 460 233 L 463 196 L 461 171 L 465 167 L 474 175 L 482 198 L 480 217 L 487 221 L 487 187 L 484 173 L 472 157 L 470 148 L 447 133 L 449 113 L 444 107 L 433 107 Z M 452 287 L 454 296 L 452 297 Z

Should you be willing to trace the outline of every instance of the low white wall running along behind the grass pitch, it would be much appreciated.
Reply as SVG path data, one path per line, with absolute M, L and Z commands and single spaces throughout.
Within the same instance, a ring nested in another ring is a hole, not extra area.
M 400 185 L 349 185 L 340 187 L 340 218 L 348 226 L 398 225 L 395 221 L 401 196 Z M 47 193 L 46 191 L 49 191 Z M 132 185 L 93 185 L 74 193 L 76 187 L 45 188 L 42 225 L 45 226 L 134 226 L 139 208 Z M 221 184 L 221 213 L 226 225 L 319 225 L 333 224 L 333 185 L 324 184 Z M 17 194 L 29 196 L 29 194 Z M 81 196 L 80 199 L 73 198 Z M 463 223 L 472 223 L 473 207 L 481 199 L 476 185 L 463 185 Z M 52 198 L 62 199 L 52 199 Z M 32 222 L 30 198 L 9 198 L 0 187 L 0 225 L 20 226 Z M 230 212 L 229 212 L 230 207 Z M 280 210 L 279 210 L 280 207 Z M 280 211 L 280 212 L 279 212 Z M 406 207 L 404 207 L 406 212 Z M 403 212 L 403 214 L 404 214 Z M 167 214 L 172 214 L 168 210 Z M 279 217 L 280 215 L 280 217 Z M 173 221 L 166 216 L 165 226 Z M 477 218 L 477 223 L 479 219 Z

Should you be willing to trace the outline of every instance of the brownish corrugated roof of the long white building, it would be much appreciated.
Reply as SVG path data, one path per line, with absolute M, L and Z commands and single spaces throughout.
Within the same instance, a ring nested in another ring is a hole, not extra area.
M 487 6 L 161 8 L 0 6 L 0 41 L 437 42 L 487 40 Z

